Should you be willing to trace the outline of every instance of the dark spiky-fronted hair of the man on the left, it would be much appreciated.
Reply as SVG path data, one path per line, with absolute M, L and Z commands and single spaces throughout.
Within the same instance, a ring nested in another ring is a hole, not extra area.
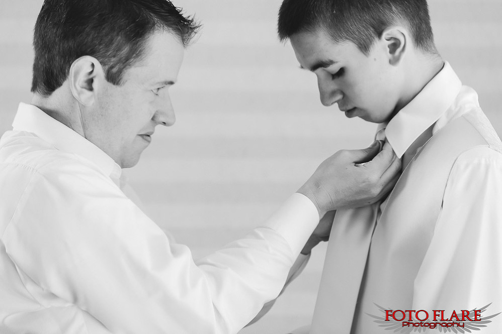
M 31 91 L 49 96 L 86 55 L 120 85 L 151 34 L 168 31 L 187 46 L 199 27 L 168 0 L 45 0 L 35 25 Z

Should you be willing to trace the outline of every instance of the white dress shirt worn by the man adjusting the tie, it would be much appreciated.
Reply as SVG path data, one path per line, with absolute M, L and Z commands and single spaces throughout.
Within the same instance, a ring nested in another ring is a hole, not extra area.
M 319 220 L 293 194 L 194 262 L 94 144 L 24 103 L 13 128 L 0 140 L 1 333 L 235 333 L 277 297 Z

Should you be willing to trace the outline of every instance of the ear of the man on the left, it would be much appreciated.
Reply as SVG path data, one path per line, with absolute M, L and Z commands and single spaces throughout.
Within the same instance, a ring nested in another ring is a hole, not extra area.
M 68 80 L 73 97 L 89 106 L 96 100 L 96 90 L 105 80 L 105 73 L 96 58 L 82 56 L 71 64 Z

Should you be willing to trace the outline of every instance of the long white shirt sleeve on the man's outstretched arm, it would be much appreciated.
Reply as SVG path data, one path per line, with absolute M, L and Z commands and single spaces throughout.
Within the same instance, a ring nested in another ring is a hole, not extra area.
M 224 334 L 277 297 L 318 219 L 294 194 L 263 226 L 194 262 L 109 178 L 59 162 L 33 176 L 3 240 L 22 273 L 112 332 Z

